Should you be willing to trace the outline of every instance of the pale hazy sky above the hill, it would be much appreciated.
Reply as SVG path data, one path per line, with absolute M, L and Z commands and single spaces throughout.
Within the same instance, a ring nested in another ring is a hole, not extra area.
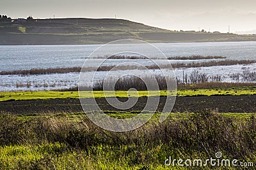
M 12 18 L 124 18 L 171 30 L 256 30 L 255 0 L 6 0 L 0 14 Z

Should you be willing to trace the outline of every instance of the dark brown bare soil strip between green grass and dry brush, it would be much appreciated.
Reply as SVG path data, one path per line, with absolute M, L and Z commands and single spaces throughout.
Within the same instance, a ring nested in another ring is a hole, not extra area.
M 120 101 L 127 101 L 120 98 Z M 160 98 L 157 111 L 163 110 L 166 97 Z M 110 106 L 106 99 L 99 98 L 97 103 L 102 110 L 120 111 Z M 140 97 L 138 102 L 129 110 L 143 110 L 147 97 Z M 173 112 L 197 112 L 205 109 L 230 113 L 256 113 L 256 96 L 197 96 L 177 97 Z M 82 112 L 79 99 L 52 99 L 52 100 L 28 100 L 28 101 L 5 101 L 0 102 L 0 111 L 15 115 L 26 115 L 33 113 L 60 113 L 60 112 Z

